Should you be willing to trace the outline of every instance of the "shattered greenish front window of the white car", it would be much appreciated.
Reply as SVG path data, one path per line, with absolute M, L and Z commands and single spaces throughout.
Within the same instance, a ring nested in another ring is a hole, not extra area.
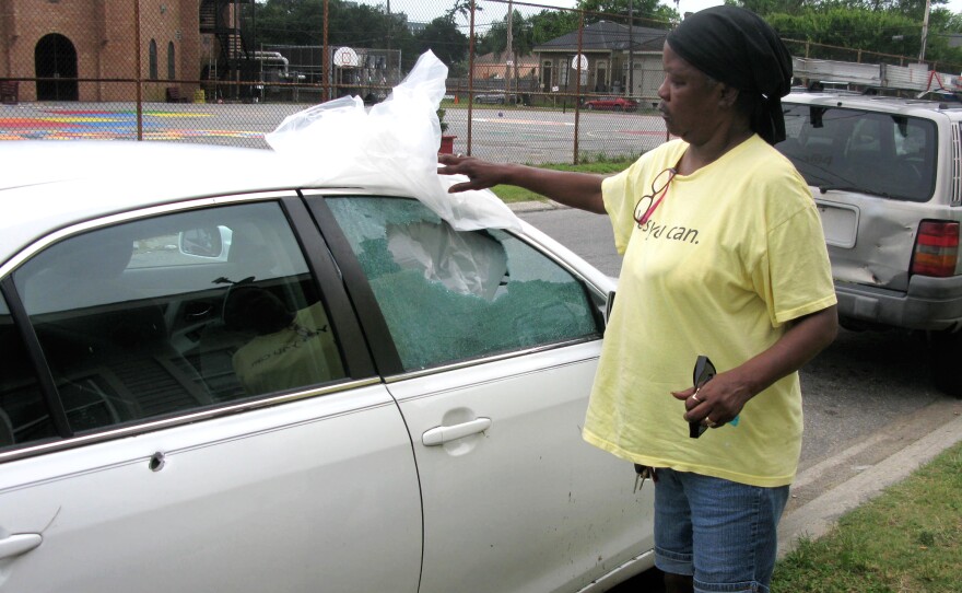
M 584 284 L 509 233 L 455 231 L 417 200 L 327 204 L 406 370 L 600 337 Z

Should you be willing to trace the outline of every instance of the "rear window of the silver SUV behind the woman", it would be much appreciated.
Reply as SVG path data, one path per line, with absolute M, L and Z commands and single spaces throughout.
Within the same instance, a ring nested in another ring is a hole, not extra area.
M 935 123 L 861 109 L 783 103 L 776 148 L 809 185 L 928 201 L 935 191 Z

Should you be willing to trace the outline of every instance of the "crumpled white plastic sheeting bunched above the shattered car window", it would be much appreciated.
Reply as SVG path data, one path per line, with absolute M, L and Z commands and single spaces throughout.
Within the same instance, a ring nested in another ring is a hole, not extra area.
M 384 102 L 365 109 L 341 97 L 285 118 L 265 139 L 283 153 L 305 185 L 390 187 L 414 197 L 459 231 L 520 230 L 514 212 L 491 190 L 448 194 L 461 175 L 437 174 L 447 67 L 430 50 Z

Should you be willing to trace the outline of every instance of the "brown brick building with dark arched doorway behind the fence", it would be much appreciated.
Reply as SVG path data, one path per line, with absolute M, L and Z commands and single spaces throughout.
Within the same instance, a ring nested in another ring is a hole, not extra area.
M 144 101 L 187 97 L 201 79 L 224 80 L 250 61 L 235 19 L 249 4 L 2 0 L 0 79 L 21 79 L 21 101 L 131 101 L 137 80 Z

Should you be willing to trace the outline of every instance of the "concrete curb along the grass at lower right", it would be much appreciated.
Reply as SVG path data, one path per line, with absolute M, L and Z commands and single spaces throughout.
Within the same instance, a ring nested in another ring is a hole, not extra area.
M 962 402 L 940 399 L 893 430 L 877 433 L 806 469 L 791 486 L 793 497 L 796 491 L 821 493 L 786 511 L 778 524 L 778 557 L 794 550 L 802 539 L 817 539 L 831 532 L 843 514 L 907 478 L 959 441 Z M 888 456 L 869 465 L 861 463 L 866 457 L 878 457 L 879 452 Z M 833 486 L 832 478 L 840 474 L 844 476 L 842 481 Z

